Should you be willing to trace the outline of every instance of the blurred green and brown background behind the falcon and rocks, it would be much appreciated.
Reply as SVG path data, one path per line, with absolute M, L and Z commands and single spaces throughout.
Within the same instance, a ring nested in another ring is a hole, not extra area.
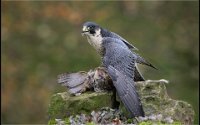
M 146 79 L 167 79 L 171 98 L 199 115 L 199 2 L 1 2 L 1 123 L 47 123 L 58 74 L 88 71 L 100 56 L 81 36 L 94 21 L 123 36 L 159 70 L 140 66 Z

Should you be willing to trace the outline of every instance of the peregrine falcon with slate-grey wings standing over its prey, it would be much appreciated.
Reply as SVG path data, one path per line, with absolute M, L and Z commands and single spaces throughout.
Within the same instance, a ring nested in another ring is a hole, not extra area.
M 144 116 L 139 95 L 134 86 L 134 80 L 144 80 L 136 63 L 152 66 L 144 58 L 131 50 L 137 50 L 121 36 L 110 32 L 98 24 L 86 22 L 83 24 L 82 35 L 102 56 L 102 65 L 113 81 L 118 96 L 133 117 Z

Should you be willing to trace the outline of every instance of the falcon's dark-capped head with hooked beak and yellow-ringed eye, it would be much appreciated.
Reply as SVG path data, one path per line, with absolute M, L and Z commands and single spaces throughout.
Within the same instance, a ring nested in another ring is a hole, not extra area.
M 82 35 L 99 36 L 101 34 L 101 27 L 93 22 L 86 22 L 83 24 Z

